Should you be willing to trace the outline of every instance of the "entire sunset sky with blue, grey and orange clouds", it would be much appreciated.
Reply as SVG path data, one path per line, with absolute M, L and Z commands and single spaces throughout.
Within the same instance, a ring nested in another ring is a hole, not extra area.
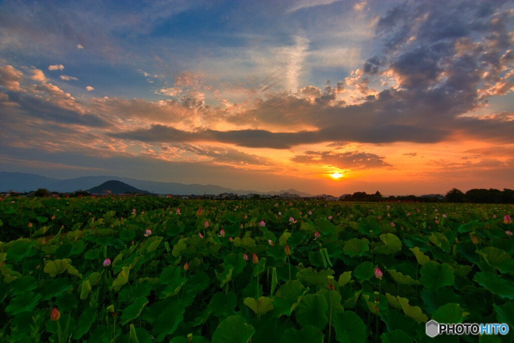
M 514 188 L 514 4 L 0 2 L 0 170 Z

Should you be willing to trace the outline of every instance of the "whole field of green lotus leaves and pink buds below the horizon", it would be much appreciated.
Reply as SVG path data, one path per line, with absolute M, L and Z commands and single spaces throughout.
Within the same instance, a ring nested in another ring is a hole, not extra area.
M 513 210 L 8 197 L 0 341 L 512 342 Z

